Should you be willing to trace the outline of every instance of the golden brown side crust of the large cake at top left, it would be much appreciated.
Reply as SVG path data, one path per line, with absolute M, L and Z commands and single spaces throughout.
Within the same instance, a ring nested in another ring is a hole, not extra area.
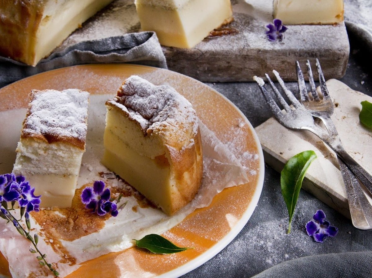
M 1 0 L 0 3 L 0 55 L 35 65 L 32 41 L 42 19 L 44 1 Z

